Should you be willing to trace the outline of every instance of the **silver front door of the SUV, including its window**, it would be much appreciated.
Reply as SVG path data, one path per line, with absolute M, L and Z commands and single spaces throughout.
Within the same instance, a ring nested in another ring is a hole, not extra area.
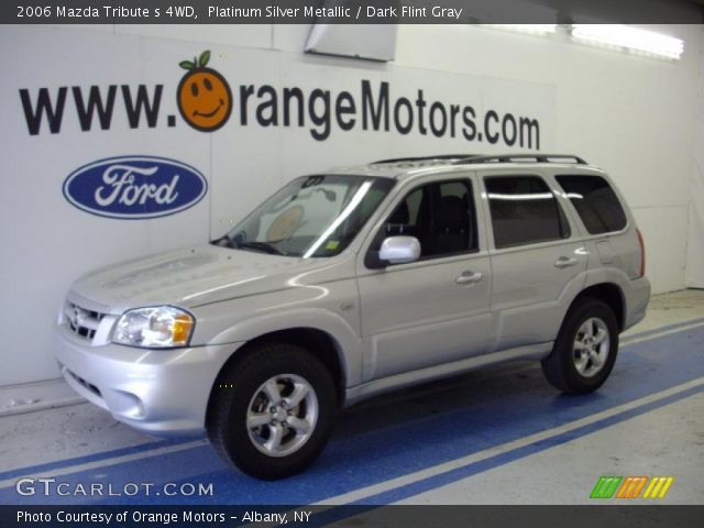
M 490 344 L 491 265 L 472 182 L 436 176 L 400 196 L 359 262 L 364 381 L 462 360 Z M 419 240 L 420 258 L 370 268 L 383 240 L 402 234 Z

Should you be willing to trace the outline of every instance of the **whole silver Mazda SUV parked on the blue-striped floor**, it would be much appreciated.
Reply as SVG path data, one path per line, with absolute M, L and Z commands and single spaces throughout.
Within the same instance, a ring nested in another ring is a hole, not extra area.
M 649 297 L 634 218 L 583 160 L 387 160 L 294 179 L 208 245 L 85 275 L 56 355 L 117 419 L 205 430 L 278 479 L 339 408 L 387 391 L 534 359 L 591 393 Z

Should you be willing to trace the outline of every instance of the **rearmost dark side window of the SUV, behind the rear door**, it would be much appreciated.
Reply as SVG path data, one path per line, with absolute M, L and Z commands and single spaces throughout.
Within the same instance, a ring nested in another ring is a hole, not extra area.
M 558 183 L 591 234 L 620 231 L 626 213 L 614 189 L 598 176 L 558 176 Z

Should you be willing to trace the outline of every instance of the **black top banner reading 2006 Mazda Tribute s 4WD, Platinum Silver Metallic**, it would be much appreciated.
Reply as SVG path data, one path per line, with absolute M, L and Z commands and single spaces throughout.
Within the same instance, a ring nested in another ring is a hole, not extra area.
M 15 0 L 1 24 L 468 24 L 704 21 L 688 0 Z

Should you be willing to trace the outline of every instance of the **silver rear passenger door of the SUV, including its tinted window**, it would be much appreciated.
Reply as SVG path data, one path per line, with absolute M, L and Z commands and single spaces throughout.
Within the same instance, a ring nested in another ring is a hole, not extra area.
M 539 174 L 482 173 L 491 218 L 494 350 L 554 340 L 587 252 Z

